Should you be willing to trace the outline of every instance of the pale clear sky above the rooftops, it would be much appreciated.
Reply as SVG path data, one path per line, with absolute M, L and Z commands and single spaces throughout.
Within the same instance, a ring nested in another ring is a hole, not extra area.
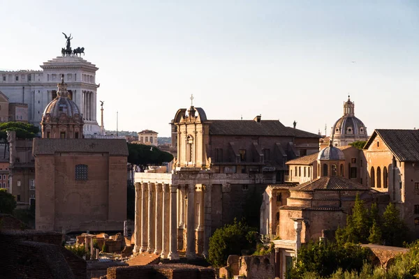
M 170 136 L 191 94 L 208 119 L 261 114 L 328 135 L 350 95 L 369 134 L 419 128 L 416 0 L 0 0 L 0 10 L 0 69 L 41 70 L 72 33 L 99 68 L 107 130 L 118 112 L 119 130 Z

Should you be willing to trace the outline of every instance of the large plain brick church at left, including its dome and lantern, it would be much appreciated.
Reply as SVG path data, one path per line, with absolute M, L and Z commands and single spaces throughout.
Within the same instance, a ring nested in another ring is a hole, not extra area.
M 124 139 L 84 139 L 84 122 L 66 84 L 47 105 L 34 140 L 36 229 L 122 230 L 126 220 Z

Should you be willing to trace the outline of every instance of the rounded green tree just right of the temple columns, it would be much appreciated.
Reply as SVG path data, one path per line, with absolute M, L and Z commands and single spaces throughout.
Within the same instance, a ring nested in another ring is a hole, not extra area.
M 208 261 L 213 266 L 225 266 L 229 255 L 241 255 L 242 250 L 256 247 L 256 229 L 249 227 L 243 221 L 219 227 L 210 237 Z

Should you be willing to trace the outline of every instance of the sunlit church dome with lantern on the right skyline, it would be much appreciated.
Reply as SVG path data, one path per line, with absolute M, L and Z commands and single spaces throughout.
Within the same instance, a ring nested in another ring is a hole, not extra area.
M 336 146 L 344 146 L 351 142 L 367 140 L 367 128 L 364 123 L 355 117 L 355 104 L 348 96 L 344 103 L 344 116 L 337 119 L 332 127 L 332 137 Z

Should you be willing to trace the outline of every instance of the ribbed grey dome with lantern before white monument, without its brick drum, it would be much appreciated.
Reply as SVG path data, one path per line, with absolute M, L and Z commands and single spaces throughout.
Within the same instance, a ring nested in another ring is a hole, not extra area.
M 67 84 L 64 83 L 64 79 L 61 79 L 61 83 L 58 84 L 57 98 L 52 100 L 43 112 L 43 119 L 49 114 L 51 121 L 59 121 L 66 116 L 67 119 L 73 119 L 76 122 L 81 120 L 81 114 L 78 106 L 73 100 L 68 98 Z M 63 115 L 64 114 L 64 115 Z

